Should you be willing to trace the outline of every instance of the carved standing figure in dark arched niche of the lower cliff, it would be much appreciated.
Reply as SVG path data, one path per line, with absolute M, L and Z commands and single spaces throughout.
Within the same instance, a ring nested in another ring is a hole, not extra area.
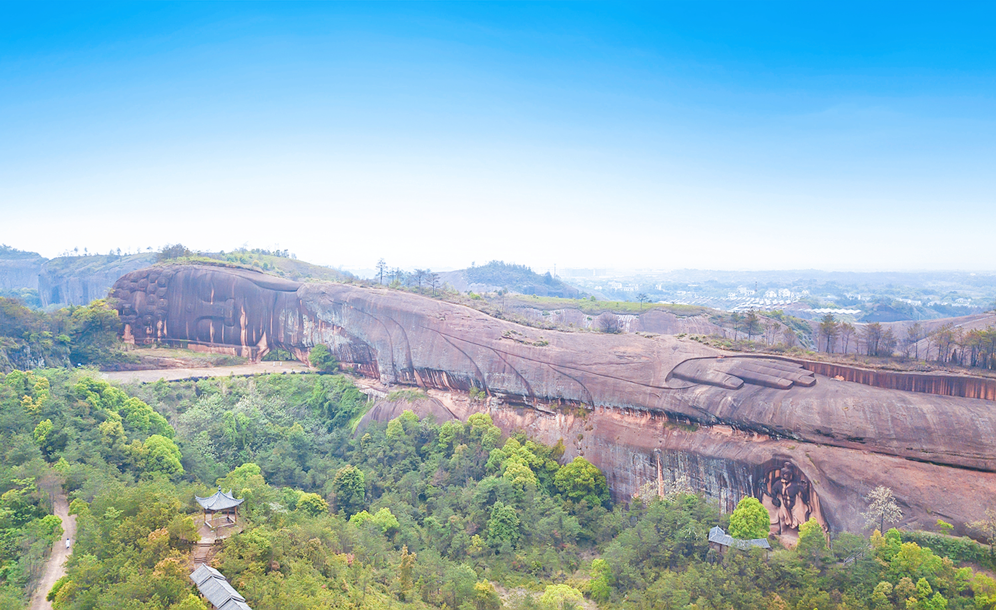
M 771 532 L 796 534 L 799 526 L 815 517 L 827 530 L 820 497 L 809 478 L 791 461 L 772 459 L 761 466 L 758 495 L 771 515 Z

